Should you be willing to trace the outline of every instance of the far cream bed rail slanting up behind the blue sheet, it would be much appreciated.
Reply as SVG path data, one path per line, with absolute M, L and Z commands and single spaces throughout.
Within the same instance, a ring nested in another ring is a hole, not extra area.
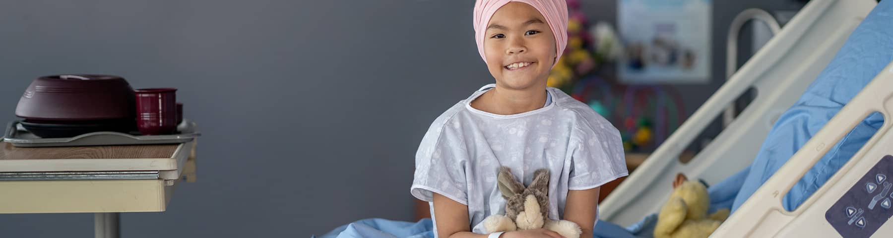
M 660 209 L 677 173 L 714 185 L 746 168 L 775 120 L 818 77 L 876 4 L 874 0 L 813 0 L 806 4 L 599 204 L 599 217 L 629 226 Z M 713 143 L 689 163 L 681 163 L 681 152 L 750 87 L 757 92 L 754 101 Z

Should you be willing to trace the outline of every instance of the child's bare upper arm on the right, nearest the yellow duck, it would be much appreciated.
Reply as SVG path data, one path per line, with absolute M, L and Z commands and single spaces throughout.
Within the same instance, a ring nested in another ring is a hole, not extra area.
M 570 190 L 564 204 L 564 219 L 580 226 L 580 237 L 592 237 L 592 228 L 596 225 L 598 208 L 598 192 L 601 187 L 587 190 Z

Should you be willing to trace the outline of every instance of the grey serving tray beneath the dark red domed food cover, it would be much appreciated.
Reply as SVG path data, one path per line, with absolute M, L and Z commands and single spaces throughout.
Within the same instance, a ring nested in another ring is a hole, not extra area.
M 31 134 L 16 120 L 6 127 L 4 142 L 17 147 L 51 147 L 51 146 L 90 146 L 90 145 L 126 145 L 126 144 L 181 144 L 201 135 L 195 122 L 183 119 L 173 135 L 130 135 L 120 132 L 93 132 L 65 138 L 41 138 Z

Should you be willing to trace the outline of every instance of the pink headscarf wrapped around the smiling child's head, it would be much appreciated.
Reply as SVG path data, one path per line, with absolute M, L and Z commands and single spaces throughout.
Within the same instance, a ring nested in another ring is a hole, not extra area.
M 537 9 L 543 17 L 546 18 L 546 24 L 552 29 L 555 36 L 555 62 L 561 58 L 564 47 L 567 46 L 567 2 L 565 0 L 477 0 L 474 4 L 474 40 L 478 42 L 478 53 L 480 58 L 487 62 L 487 56 L 484 55 L 484 38 L 487 31 L 487 25 L 493 13 L 496 13 L 500 7 L 511 2 L 521 2 L 530 4 Z M 552 65 L 555 67 L 555 64 Z

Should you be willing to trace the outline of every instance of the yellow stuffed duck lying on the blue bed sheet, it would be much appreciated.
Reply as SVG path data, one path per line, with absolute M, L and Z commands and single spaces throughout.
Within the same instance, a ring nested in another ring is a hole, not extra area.
M 707 187 L 697 181 L 688 181 L 685 175 L 677 175 L 670 200 L 663 204 L 657 215 L 655 238 L 710 236 L 729 217 L 729 209 L 707 215 L 709 207 Z

